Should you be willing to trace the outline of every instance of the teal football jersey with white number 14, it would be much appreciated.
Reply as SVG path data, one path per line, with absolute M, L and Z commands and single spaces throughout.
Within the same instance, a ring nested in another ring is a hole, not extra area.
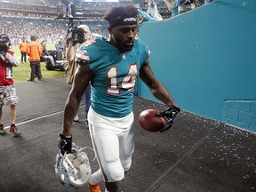
M 76 62 L 84 60 L 92 69 L 92 108 L 108 117 L 123 117 L 132 112 L 133 91 L 141 66 L 148 60 L 146 44 L 135 40 L 131 52 L 121 54 L 100 37 L 81 44 L 76 51 Z

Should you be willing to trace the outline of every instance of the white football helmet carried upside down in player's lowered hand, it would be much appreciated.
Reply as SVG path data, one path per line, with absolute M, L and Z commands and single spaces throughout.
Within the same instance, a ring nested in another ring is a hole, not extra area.
M 55 162 L 55 173 L 65 187 L 83 187 L 91 178 L 92 170 L 84 151 L 73 143 L 71 153 L 58 153 Z

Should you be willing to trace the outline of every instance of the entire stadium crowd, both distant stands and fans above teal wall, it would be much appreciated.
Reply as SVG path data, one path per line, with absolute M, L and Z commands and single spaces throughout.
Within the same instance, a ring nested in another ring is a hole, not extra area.
M 0 2 L 3 0 L 0 0 Z M 10 0 L 12 2 L 13 0 Z M 78 4 L 79 0 L 73 0 Z M 182 3 L 183 2 L 183 3 Z M 212 0 L 145 0 L 142 4 L 137 4 L 138 11 L 140 12 L 140 21 L 151 20 L 163 20 L 177 16 L 180 13 L 191 11 L 199 6 L 208 4 Z M 15 3 L 13 1 L 13 3 Z M 20 0 L 21 4 L 57 4 L 56 0 Z M 124 2 L 123 2 L 124 3 Z M 132 3 L 127 2 L 126 4 Z M 16 2 L 17 4 L 17 2 Z M 95 3 L 94 3 L 95 4 Z M 120 3 L 121 4 L 121 3 Z M 93 5 L 93 4 L 92 4 Z M 98 4 L 97 6 L 100 6 Z M 95 8 L 95 7 L 94 7 Z M 163 9 L 165 11 L 163 11 Z M 166 17 L 166 12 L 169 12 L 169 16 Z M 100 36 L 108 36 L 107 23 L 99 18 L 89 18 L 92 20 L 74 20 L 74 26 L 80 24 L 87 25 L 92 33 L 99 34 Z M 8 34 L 12 44 L 20 44 L 21 39 L 29 41 L 29 36 L 36 35 L 39 37 L 39 41 L 47 41 L 47 44 L 56 44 L 60 39 L 60 36 L 67 36 L 68 32 L 68 20 L 53 20 L 45 18 L 28 18 L 21 17 L 4 17 L 0 16 L 0 26 L 4 28 L 4 33 Z

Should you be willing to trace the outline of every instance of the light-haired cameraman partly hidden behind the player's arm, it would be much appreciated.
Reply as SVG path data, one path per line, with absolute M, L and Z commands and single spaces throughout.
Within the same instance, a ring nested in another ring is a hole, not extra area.
M 91 30 L 87 25 L 80 25 L 77 28 L 73 28 L 70 30 L 67 36 L 67 43 L 68 43 L 68 48 L 66 52 L 67 60 L 75 60 L 77 47 L 79 46 L 79 44 L 83 44 L 85 41 L 89 40 L 90 36 L 91 36 Z M 74 64 L 76 63 L 74 62 Z M 91 86 L 87 86 L 84 94 L 85 94 L 85 123 L 87 126 L 88 125 L 87 114 L 91 106 Z M 77 113 L 74 118 L 74 121 L 75 122 L 79 121 L 79 116 Z

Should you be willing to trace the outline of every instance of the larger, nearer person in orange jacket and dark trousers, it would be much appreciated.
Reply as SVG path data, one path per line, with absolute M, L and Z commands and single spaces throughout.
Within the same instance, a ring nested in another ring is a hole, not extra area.
M 41 65 L 40 65 L 40 56 L 43 52 L 43 47 L 41 44 L 36 42 L 36 36 L 30 36 L 30 43 L 27 46 L 26 52 L 29 56 L 30 62 L 30 78 L 29 82 L 35 82 L 35 76 L 38 77 L 39 81 L 43 80 L 43 76 L 41 74 Z

